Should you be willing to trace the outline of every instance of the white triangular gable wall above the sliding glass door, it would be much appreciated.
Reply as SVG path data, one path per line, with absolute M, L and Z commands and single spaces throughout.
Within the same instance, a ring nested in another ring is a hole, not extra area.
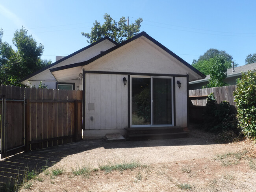
M 135 72 L 150 74 L 189 74 L 193 79 L 191 69 L 147 40 L 136 39 L 121 48 L 101 57 L 88 65 L 85 70 L 108 72 Z

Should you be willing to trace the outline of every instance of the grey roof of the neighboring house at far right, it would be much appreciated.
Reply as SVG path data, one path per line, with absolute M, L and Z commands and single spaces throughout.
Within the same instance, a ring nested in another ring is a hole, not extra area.
M 226 73 L 227 74 L 226 78 L 241 76 L 242 72 L 247 72 L 249 70 L 255 70 L 255 69 L 256 69 L 256 63 L 251 63 L 251 64 L 243 65 L 243 66 L 237 66 L 234 68 L 235 72 L 233 72 L 233 68 L 229 68 Z M 196 81 L 189 82 L 189 85 L 207 82 L 209 79 L 210 79 L 210 75 L 207 75 L 206 78 L 204 78 L 204 79 L 199 79 Z

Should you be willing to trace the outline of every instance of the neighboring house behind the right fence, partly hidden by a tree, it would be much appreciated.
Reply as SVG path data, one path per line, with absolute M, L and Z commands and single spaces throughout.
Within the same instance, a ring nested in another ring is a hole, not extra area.
M 237 66 L 233 68 L 229 68 L 226 72 L 227 77 L 224 79 L 228 85 L 236 85 L 236 79 L 241 79 L 242 72 L 248 72 L 249 70 L 255 70 L 256 63 L 251 63 L 248 65 Z M 199 79 L 195 81 L 189 82 L 189 90 L 194 89 L 202 89 L 202 86 L 206 86 L 209 83 L 210 75 L 207 75 L 204 79 Z

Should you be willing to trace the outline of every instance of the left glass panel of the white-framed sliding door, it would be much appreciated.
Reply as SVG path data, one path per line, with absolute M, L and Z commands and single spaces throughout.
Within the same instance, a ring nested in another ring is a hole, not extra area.
M 150 82 L 150 78 L 132 78 L 132 126 L 151 125 Z

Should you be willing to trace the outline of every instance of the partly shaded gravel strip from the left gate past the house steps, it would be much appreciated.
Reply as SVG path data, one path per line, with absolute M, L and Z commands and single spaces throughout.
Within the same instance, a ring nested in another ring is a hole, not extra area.
M 226 151 L 243 148 L 236 143 L 217 144 L 211 135 L 191 130 L 189 137 L 164 140 L 105 142 L 82 140 L 42 150 L 20 153 L 0 161 L 0 183 L 23 174 L 24 169 L 39 170 L 42 166 L 76 167 L 90 165 L 98 167 L 106 162 L 139 161 L 156 164 L 172 161 L 193 160 L 211 157 Z

